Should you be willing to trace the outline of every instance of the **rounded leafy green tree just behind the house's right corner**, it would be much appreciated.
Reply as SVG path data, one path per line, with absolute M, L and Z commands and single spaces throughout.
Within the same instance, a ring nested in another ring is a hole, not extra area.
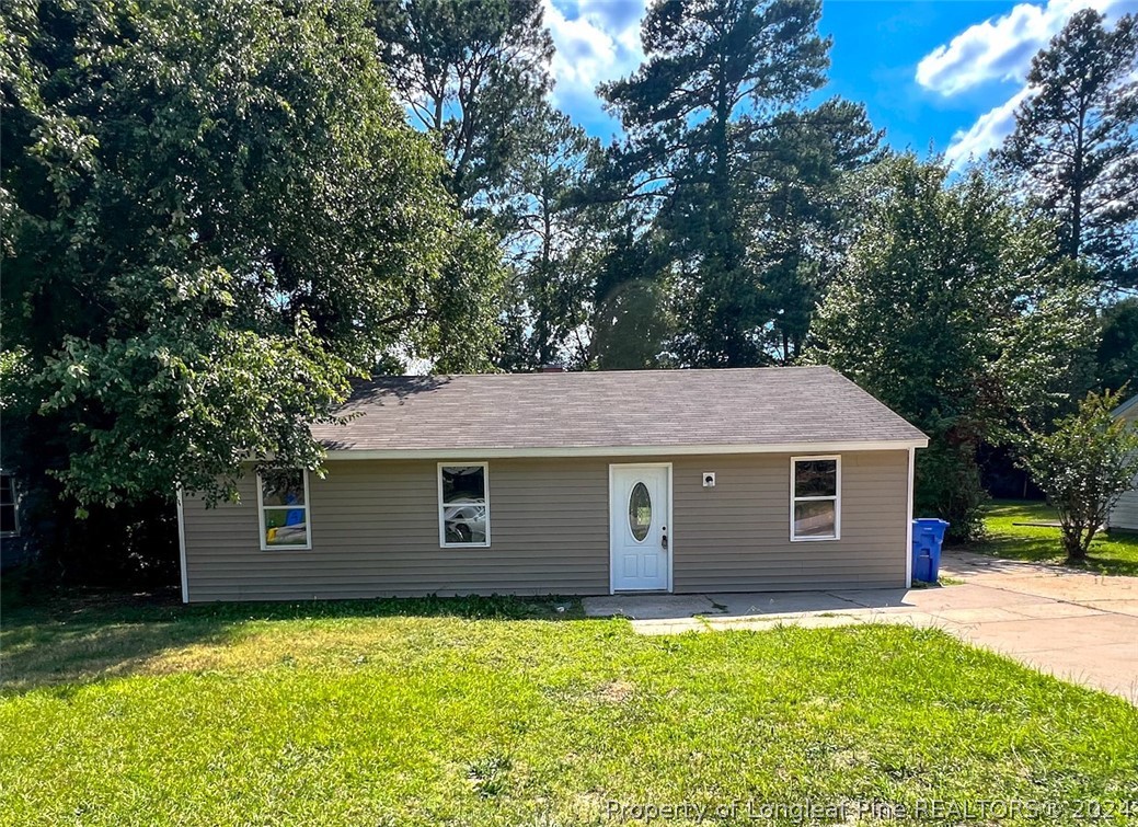
M 1054 415 L 1094 344 L 1090 297 L 1054 263 L 1050 226 L 975 171 L 913 157 L 865 174 L 865 224 L 815 319 L 809 357 L 931 438 L 917 506 L 976 524 L 981 440 Z M 1081 392 L 1081 391 L 1080 391 Z

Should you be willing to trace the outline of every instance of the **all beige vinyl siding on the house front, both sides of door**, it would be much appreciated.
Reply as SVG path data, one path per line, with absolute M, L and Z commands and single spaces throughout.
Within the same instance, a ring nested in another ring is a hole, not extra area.
M 790 541 L 789 454 L 643 458 L 669 461 L 676 592 L 904 585 L 906 450 L 842 455 L 842 538 L 815 543 Z M 310 479 L 312 549 L 263 552 L 250 473 L 239 505 L 185 499 L 189 599 L 605 594 L 609 464 L 490 460 L 488 548 L 439 548 L 435 461 L 335 461 Z

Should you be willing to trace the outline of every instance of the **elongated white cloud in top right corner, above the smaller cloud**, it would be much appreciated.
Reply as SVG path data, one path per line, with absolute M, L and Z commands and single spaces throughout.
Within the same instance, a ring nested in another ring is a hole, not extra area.
M 992 81 L 1022 81 L 1031 58 L 1080 9 L 1096 8 L 1108 17 L 1138 9 L 1138 0 L 1048 0 L 1045 6 L 1019 3 L 1001 17 L 978 23 L 939 46 L 917 64 L 917 83 L 953 96 Z

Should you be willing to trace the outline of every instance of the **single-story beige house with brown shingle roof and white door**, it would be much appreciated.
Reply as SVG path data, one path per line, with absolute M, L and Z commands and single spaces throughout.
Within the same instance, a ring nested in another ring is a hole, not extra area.
M 388 377 L 179 503 L 188 602 L 907 586 L 927 438 L 828 367 Z

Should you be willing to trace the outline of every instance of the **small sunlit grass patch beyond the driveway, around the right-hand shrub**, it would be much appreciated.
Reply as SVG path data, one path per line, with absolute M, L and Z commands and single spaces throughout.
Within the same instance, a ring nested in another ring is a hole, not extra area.
M 965 547 L 997 557 L 1062 563 L 1065 555 L 1057 528 L 1015 524 L 1055 520 L 1055 511 L 1045 503 L 997 499 L 984 508 L 987 536 Z M 1138 534 L 1099 535 L 1091 543 L 1086 568 L 1106 574 L 1138 576 Z

